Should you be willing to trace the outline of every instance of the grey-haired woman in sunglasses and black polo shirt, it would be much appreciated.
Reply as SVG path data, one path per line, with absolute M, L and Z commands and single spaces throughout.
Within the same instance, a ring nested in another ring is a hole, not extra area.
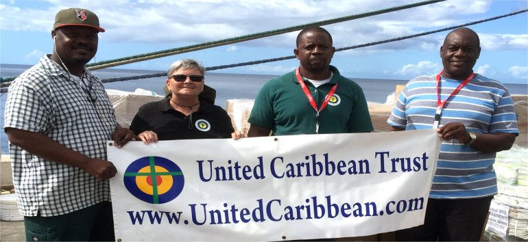
M 236 137 L 228 113 L 217 105 L 200 101 L 205 68 L 193 59 L 174 62 L 167 72 L 163 100 L 139 108 L 130 130 L 150 144 L 169 139 L 221 139 Z

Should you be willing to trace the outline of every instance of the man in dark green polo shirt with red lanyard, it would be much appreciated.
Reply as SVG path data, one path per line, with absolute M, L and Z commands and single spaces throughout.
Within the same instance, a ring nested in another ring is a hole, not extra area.
M 370 132 L 363 90 L 330 65 L 332 36 L 322 27 L 303 29 L 293 50 L 300 65 L 265 83 L 256 96 L 248 137 Z

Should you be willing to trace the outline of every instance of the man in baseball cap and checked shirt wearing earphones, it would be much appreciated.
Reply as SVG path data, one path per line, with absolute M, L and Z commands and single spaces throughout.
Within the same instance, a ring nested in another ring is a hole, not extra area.
M 121 128 L 101 81 L 85 68 L 97 53 L 99 18 L 56 14 L 53 53 L 17 77 L 5 103 L 13 182 L 27 241 L 115 241 L 106 141 Z

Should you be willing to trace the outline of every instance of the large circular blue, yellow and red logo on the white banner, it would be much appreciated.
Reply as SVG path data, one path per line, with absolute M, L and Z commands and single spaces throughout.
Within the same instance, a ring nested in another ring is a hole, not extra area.
M 142 157 L 128 165 L 123 178 L 134 197 L 151 204 L 163 204 L 178 197 L 183 190 L 183 172 L 169 159 Z

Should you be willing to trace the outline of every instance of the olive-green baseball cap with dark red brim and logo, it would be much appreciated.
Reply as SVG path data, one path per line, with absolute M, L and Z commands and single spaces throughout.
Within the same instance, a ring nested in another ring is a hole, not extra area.
M 68 8 L 60 10 L 55 16 L 55 23 L 53 30 L 65 26 L 86 26 L 93 27 L 99 32 L 104 32 L 104 29 L 99 27 L 99 18 L 90 10 L 82 8 Z

